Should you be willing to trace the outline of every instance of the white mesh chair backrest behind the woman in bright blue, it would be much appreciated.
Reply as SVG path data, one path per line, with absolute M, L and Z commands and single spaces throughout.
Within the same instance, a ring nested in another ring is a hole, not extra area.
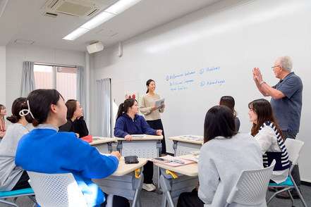
M 42 207 L 87 206 L 83 193 L 71 173 L 46 174 L 28 171 L 30 186 Z

